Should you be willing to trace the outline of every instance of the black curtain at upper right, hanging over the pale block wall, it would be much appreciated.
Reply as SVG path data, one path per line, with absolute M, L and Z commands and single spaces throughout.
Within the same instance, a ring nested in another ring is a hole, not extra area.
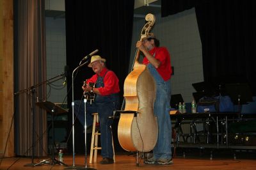
M 256 1 L 176 2 L 162 0 L 162 16 L 195 7 L 204 80 L 214 84 L 248 82 L 256 95 Z

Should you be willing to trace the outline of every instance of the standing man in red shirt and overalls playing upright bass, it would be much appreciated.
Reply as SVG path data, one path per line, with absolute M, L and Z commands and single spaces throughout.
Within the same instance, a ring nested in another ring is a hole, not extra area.
M 148 33 L 146 38 L 138 41 L 136 47 L 143 52 L 143 64 L 147 65 L 156 82 L 154 115 L 157 117 L 158 137 L 153 157 L 144 160 L 144 163 L 172 164 L 172 124 L 169 115 L 172 75 L 170 54 L 165 47 L 159 47 L 159 40 L 153 33 Z

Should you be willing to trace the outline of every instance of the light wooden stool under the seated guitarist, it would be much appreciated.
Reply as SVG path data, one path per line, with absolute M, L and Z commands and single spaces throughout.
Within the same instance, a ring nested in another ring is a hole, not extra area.
M 97 112 L 94 112 L 93 114 L 93 124 L 92 124 L 92 141 L 91 141 L 91 151 L 90 151 L 90 164 L 92 164 L 92 157 L 93 157 L 93 151 L 94 151 L 94 163 L 97 162 L 97 151 L 101 150 L 101 147 L 98 146 L 98 137 L 100 135 L 99 131 L 96 131 L 96 122 L 99 123 L 99 116 Z M 112 133 L 112 132 L 111 132 Z M 112 147 L 113 147 L 113 160 L 116 162 L 115 158 L 115 148 L 114 148 L 114 141 L 113 141 L 113 135 L 112 135 Z

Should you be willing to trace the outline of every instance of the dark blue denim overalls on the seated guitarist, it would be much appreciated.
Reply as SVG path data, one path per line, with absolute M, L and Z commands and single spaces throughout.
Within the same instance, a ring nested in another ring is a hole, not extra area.
M 106 72 L 107 73 L 107 72 Z M 106 75 L 105 73 L 105 75 Z M 104 75 L 104 77 L 105 77 Z M 95 88 L 104 87 L 104 77 L 98 76 L 95 82 Z M 77 101 L 77 100 L 76 100 Z M 78 109 L 78 102 L 75 101 L 75 111 Z M 93 112 L 99 113 L 100 121 L 100 144 L 101 144 L 101 155 L 103 158 L 113 158 L 113 147 L 112 147 L 112 134 L 111 124 L 113 119 L 109 119 L 109 116 L 113 116 L 113 111 L 118 109 L 119 95 L 118 93 L 102 96 L 95 95 L 95 102 L 90 104 L 86 102 L 86 126 L 89 127 L 93 123 Z M 79 112 L 77 112 L 77 118 L 84 125 L 84 105 L 81 105 Z

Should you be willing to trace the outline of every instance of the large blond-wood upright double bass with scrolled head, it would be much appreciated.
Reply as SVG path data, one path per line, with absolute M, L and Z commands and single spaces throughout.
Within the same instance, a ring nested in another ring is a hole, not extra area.
M 148 13 L 145 20 L 147 23 L 141 31 L 140 40 L 147 37 L 155 17 Z M 137 49 L 132 72 L 124 82 L 125 112 L 120 114 L 118 141 L 124 150 L 147 152 L 156 145 L 158 134 L 154 116 L 156 84 L 147 66 L 139 63 L 139 58 L 140 50 Z

